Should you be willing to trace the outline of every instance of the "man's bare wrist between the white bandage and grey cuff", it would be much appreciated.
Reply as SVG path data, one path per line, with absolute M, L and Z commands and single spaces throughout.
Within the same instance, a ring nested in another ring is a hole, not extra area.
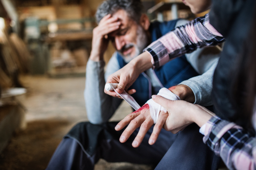
M 177 85 L 169 88 L 172 93 L 180 97 L 186 102 L 195 103 L 195 94 L 187 85 Z

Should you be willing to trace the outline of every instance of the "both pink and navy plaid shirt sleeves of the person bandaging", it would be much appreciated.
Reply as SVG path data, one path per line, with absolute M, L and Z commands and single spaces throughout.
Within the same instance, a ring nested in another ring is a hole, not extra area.
M 154 68 L 197 48 L 224 42 L 224 37 L 209 23 L 209 14 L 175 28 L 145 51 L 151 54 Z M 221 156 L 230 170 L 256 170 L 256 138 L 240 126 L 212 117 L 205 124 L 204 143 Z

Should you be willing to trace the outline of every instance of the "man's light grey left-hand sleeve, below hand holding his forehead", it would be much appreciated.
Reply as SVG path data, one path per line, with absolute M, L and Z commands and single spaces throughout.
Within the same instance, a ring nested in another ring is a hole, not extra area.
M 116 53 L 108 62 L 105 75 L 104 66 L 104 61 L 94 62 L 89 59 L 86 67 L 84 99 L 88 119 L 93 124 L 107 122 L 122 102 L 122 99 L 104 93 L 105 77 L 120 69 Z

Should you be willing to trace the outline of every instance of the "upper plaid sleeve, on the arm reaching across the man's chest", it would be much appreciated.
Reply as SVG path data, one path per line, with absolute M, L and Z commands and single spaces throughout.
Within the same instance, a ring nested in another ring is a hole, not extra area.
M 191 53 L 197 48 L 217 45 L 224 40 L 209 23 L 209 14 L 206 14 L 170 31 L 151 43 L 145 51 L 152 56 L 153 68 L 158 68 L 175 57 Z

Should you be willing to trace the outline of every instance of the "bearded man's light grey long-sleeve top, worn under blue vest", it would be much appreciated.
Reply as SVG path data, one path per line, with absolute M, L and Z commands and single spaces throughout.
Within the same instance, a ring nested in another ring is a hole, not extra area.
M 186 20 L 179 20 L 177 26 L 186 24 Z M 201 48 L 191 54 L 186 54 L 186 59 L 198 72 L 199 76 L 181 82 L 187 85 L 195 94 L 195 104 L 202 106 L 212 105 L 212 78 L 219 59 L 219 50 L 215 47 Z M 122 99 L 104 93 L 105 82 L 108 77 L 120 69 L 116 52 L 108 62 L 104 73 L 105 62 L 94 62 L 89 59 L 86 68 L 86 81 L 84 99 L 87 116 L 91 123 L 102 124 L 113 116 Z M 152 69 L 146 71 L 153 87 L 162 87 L 159 79 Z

